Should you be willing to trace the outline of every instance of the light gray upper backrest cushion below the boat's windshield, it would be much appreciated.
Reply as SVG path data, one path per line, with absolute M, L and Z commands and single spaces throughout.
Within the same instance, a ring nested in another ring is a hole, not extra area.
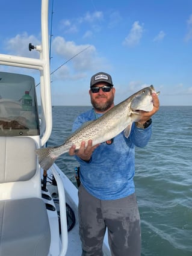
M 0 137 L 0 183 L 26 181 L 36 173 L 36 144 L 29 137 Z

